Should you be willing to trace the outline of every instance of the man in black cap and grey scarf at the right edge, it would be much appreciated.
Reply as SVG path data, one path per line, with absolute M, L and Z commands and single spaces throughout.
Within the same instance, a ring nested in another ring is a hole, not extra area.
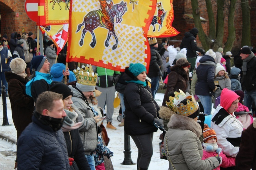
M 249 47 L 243 47 L 240 56 L 243 60 L 241 85 L 244 90 L 244 105 L 251 110 L 253 101 L 256 103 L 256 57 Z

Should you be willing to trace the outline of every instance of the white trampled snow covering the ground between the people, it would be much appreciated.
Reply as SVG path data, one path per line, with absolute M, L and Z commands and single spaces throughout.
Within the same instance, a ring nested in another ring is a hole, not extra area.
M 164 94 L 156 94 L 155 99 L 159 106 L 162 105 Z M 0 100 L 2 100 L 2 97 L 0 97 Z M 12 121 L 12 112 L 11 112 L 11 105 L 9 98 L 6 99 L 7 102 L 7 113 L 8 113 L 8 126 L 2 126 L 3 122 L 3 109 L 2 104 L 0 105 L 0 134 L 7 136 L 8 138 L 11 138 L 16 141 L 16 129 L 13 125 Z M 113 125 L 117 128 L 117 130 L 110 130 L 106 129 L 110 138 L 110 142 L 108 145 L 108 148 L 114 153 L 114 156 L 111 157 L 113 166 L 115 170 L 136 170 L 137 165 L 122 165 L 124 160 L 124 126 L 119 127 L 117 120 L 119 107 L 115 108 L 114 115 L 113 115 Z M 106 121 L 104 122 L 104 125 L 106 126 Z M 168 169 L 168 161 L 164 159 L 159 158 L 159 135 L 162 133 L 162 131 L 158 130 L 156 133 L 154 133 L 153 138 L 153 156 L 151 159 L 150 166 L 148 170 L 155 170 L 155 169 L 161 169 L 161 170 L 167 170 Z M 138 149 L 136 145 L 134 144 L 133 140 L 130 138 L 131 143 L 131 159 L 133 163 L 136 164 L 137 162 L 137 156 L 138 156 Z M 1 154 L 1 151 L 7 150 L 7 151 L 14 151 L 16 152 L 16 145 L 10 144 L 8 142 L 3 142 L 0 140 L 0 167 L 3 170 L 9 170 L 14 168 L 14 161 L 16 159 L 16 156 L 3 156 Z

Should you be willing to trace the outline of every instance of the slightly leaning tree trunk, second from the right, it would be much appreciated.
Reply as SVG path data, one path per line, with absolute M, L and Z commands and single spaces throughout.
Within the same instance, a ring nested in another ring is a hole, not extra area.
M 234 13 L 236 11 L 237 0 L 230 0 L 228 13 L 228 38 L 225 44 L 224 53 L 231 51 L 234 41 L 236 40 L 236 28 L 234 27 Z

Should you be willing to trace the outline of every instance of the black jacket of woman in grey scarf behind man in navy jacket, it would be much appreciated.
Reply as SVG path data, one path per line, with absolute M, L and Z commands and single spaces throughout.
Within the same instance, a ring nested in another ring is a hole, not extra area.
M 63 132 L 67 144 L 69 157 L 74 158 L 71 170 L 90 170 L 90 166 L 84 155 L 83 143 L 81 141 L 78 129 Z

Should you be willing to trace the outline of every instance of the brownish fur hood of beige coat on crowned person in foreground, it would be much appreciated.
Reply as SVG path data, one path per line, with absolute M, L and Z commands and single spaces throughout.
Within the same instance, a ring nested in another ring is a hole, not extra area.
M 202 134 L 202 129 L 199 123 L 194 119 L 181 115 L 172 115 L 167 127 L 170 129 L 189 130 L 194 132 L 199 138 Z

